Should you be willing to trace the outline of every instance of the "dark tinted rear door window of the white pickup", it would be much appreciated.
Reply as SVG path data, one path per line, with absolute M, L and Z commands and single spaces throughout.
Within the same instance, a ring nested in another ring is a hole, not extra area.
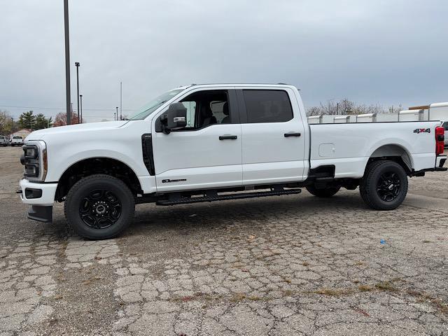
M 284 123 L 293 119 L 286 91 L 243 90 L 248 123 Z

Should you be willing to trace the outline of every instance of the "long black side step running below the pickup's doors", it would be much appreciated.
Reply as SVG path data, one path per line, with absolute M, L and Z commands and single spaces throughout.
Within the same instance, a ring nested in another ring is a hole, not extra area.
M 281 196 L 302 193 L 301 189 L 276 189 L 271 191 L 260 191 L 258 193 L 239 193 L 230 195 L 218 195 L 216 190 L 209 193 L 211 195 L 199 196 L 199 197 L 182 197 L 179 194 L 173 194 L 169 197 L 169 200 L 158 200 L 155 202 L 157 205 L 174 205 L 174 204 L 188 204 L 188 203 L 200 203 L 200 202 L 215 202 L 224 200 L 241 200 L 243 198 L 255 198 L 255 197 L 267 197 L 267 196 Z

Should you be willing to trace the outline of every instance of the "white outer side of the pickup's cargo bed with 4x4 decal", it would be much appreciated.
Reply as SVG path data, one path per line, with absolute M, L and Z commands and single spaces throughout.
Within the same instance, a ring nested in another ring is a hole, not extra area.
M 410 170 L 434 167 L 438 125 L 439 121 L 311 124 L 310 168 L 335 165 L 335 178 L 360 178 L 367 160 L 384 156 L 385 149 L 400 155 Z

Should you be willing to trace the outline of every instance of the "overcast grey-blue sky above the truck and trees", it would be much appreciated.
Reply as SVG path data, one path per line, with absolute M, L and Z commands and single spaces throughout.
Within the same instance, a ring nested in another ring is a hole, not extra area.
M 448 101 L 446 0 L 71 0 L 69 10 L 71 97 L 76 109 L 80 62 L 87 121 L 113 119 L 120 80 L 124 114 L 190 83 L 290 83 L 305 106 Z M 0 0 L 0 13 L 0 109 L 64 111 L 63 0 Z

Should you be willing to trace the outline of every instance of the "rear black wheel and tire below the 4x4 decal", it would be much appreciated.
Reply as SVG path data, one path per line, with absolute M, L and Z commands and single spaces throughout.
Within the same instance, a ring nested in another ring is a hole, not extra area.
M 405 169 L 393 161 L 375 161 L 367 166 L 359 192 L 365 204 L 375 210 L 393 210 L 407 194 Z

